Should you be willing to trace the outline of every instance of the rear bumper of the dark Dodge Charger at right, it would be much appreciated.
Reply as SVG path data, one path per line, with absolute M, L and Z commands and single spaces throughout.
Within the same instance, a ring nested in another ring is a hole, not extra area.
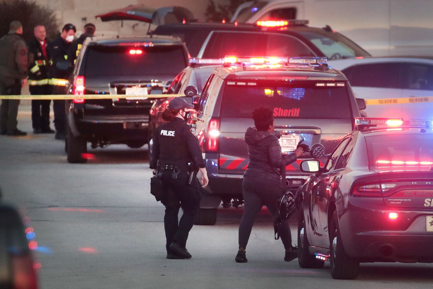
M 364 262 L 433 262 L 433 232 L 427 232 L 426 224 L 426 216 L 433 212 L 392 210 L 381 198 L 362 199 L 350 197 L 339 218 L 343 247 L 349 256 Z M 389 218 L 391 212 L 398 214 L 397 219 Z

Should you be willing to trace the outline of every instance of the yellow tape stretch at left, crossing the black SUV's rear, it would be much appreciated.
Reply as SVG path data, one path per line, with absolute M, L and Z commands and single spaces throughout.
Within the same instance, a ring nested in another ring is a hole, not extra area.
M 143 94 L 143 95 L 126 95 L 126 94 L 59 94 L 59 95 L 0 95 L 0 99 L 19 99 L 19 100 L 67 100 L 67 99 L 130 99 L 130 100 L 145 100 L 149 98 L 169 98 L 180 97 L 185 94 Z

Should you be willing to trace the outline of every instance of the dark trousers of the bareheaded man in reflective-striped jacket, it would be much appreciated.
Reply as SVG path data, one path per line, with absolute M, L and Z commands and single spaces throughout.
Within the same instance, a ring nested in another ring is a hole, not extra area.
M 52 93 L 51 85 L 29 85 L 32 95 L 47 95 Z M 50 100 L 32 100 L 32 127 L 34 130 L 47 132 L 50 129 Z

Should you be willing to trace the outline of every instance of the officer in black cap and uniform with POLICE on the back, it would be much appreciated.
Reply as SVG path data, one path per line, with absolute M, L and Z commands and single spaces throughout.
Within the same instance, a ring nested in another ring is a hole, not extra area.
M 150 167 L 165 189 L 161 202 L 165 205 L 167 259 L 191 258 L 185 246 L 200 207 L 200 184 L 190 176 L 200 171 L 202 187 L 209 181 L 195 130 L 186 123 L 192 108 L 194 105 L 182 98 L 173 98 L 162 112 L 168 122 L 161 124 L 153 136 Z M 180 221 L 179 208 L 184 212 Z

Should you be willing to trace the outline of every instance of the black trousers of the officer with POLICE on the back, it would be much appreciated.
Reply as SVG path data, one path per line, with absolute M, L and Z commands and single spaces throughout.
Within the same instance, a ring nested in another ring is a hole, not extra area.
M 172 242 L 186 246 L 188 234 L 194 225 L 197 210 L 200 207 L 200 188 L 198 182 L 187 185 L 187 172 L 181 172 L 177 179 L 173 179 L 172 171 L 164 171 L 162 183 L 165 188 L 165 195 L 161 202 L 165 205 L 164 228 L 167 240 L 166 249 Z M 184 213 L 178 220 L 179 208 Z

